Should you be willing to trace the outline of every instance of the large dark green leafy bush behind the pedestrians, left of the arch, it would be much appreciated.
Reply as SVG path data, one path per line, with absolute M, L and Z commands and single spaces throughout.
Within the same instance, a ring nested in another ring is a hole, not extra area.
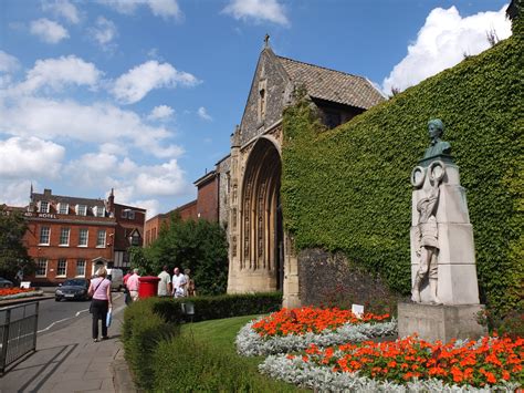
M 191 269 L 197 293 L 224 293 L 228 285 L 228 242 L 218 223 L 181 220 L 174 216 L 158 239 L 145 250 L 147 266 L 160 272 L 167 265 Z

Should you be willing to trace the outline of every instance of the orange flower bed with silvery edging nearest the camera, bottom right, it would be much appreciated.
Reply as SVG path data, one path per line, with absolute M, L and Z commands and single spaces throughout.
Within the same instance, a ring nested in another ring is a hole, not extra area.
M 431 344 L 417 338 L 269 356 L 261 372 L 317 390 L 509 390 L 522 384 L 524 340 L 483 338 Z

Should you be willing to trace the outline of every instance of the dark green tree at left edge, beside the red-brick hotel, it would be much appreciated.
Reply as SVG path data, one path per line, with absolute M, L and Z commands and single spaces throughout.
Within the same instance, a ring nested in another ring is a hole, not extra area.
M 28 229 L 25 219 L 19 211 L 0 206 L 0 275 L 15 278 L 19 271 L 28 275 L 34 271 L 34 262 L 28 255 L 22 238 Z

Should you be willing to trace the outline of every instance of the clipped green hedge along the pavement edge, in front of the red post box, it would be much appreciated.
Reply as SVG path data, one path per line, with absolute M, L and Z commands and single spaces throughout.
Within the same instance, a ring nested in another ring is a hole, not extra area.
M 167 322 L 153 309 L 156 298 L 144 299 L 126 308 L 122 339 L 125 358 L 139 387 L 153 385 L 153 355 L 158 345 L 178 331 L 176 323 Z

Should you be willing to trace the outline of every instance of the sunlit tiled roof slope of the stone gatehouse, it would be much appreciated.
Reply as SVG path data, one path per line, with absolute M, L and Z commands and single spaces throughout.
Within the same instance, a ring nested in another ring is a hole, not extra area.
M 369 108 L 386 99 L 366 77 L 276 56 L 295 85 L 303 84 L 312 99 Z

